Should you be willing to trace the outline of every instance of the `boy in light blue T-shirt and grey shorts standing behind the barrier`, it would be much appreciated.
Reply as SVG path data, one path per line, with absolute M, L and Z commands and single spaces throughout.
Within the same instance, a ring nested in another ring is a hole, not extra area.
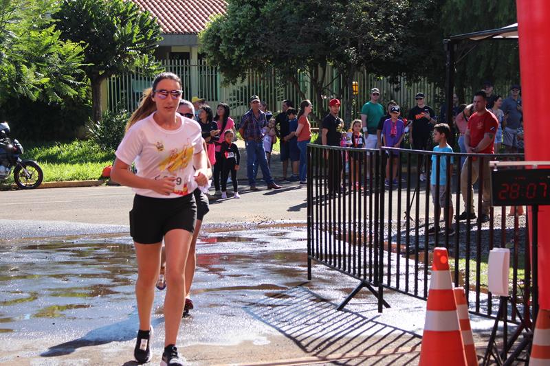
M 452 148 L 447 144 L 447 139 L 451 135 L 451 130 L 448 124 L 437 124 L 434 126 L 434 141 L 439 145 L 434 146 L 434 152 L 452 152 Z M 446 155 L 441 155 L 439 157 L 439 191 L 436 192 L 437 188 L 437 156 L 432 155 L 432 175 L 430 183 L 432 185 L 432 200 L 434 203 L 434 226 L 428 230 L 430 235 L 434 234 L 436 231 L 439 231 L 439 216 L 441 213 L 441 207 L 445 207 L 447 196 L 447 190 L 450 190 L 450 182 L 447 184 L 447 167 L 450 170 L 450 176 L 452 176 L 452 163 L 453 158 L 450 158 L 450 164 L 447 161 L 448 157 Z M 439 200 L 439 208 L 437 207 L 437 200 Z M 445 230 L 451 236 L 454 235 L 454 229 L 452 228 L 452 194 L 449 197 L 449 207 L 443 214 L 445 218 Z

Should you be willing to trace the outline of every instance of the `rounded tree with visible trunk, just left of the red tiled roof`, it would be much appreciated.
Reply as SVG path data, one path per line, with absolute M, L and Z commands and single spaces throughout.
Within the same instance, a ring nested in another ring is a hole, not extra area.
M 84 71 L 91 84 L 94 122 L 101 119 L 104 80 L 137 68 L 159 71 L 153 55 L 162 39 L 160 27 L 132 1 L 63 0 L 53 18 L 63 38 L 86 45 Z

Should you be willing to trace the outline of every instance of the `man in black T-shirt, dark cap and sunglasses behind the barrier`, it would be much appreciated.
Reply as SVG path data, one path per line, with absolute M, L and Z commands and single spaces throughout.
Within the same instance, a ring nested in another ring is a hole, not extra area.
M 424 93 L 415 95 L 417 106 L 408 113 L 409 141 L 414 150 L 428 150 L 428 140 L 432 134 L 432 129 L 436 123 L 435 113 L 432 108 L 424 104 Z M 420 180 L 426 181 L 426 173 L 423 172 L 426 164 L 422 164 Z

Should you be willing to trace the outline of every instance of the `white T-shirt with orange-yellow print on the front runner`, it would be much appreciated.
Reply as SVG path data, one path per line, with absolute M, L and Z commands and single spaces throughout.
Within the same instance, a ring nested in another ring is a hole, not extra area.
M 192 157 L 202 151 L 201 126 L 192 119 L 181 117 L 181 127 L 165 130 L 153 119 L 152 113 L 135 122 L 118 146 L 115 155 L 130 165 L 135 161 L 137 176 L 162 179 L 175 176 L 174 192 L 168 196 L 153 190 L 133 188 L 140 196 L 176 198 L 192 193 L 197 188 Z

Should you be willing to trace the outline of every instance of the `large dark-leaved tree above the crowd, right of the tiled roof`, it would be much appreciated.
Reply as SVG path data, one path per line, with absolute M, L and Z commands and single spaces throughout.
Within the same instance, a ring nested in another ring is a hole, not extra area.
M 322 106 L 325 95 L 341 97 L 344 89 L 351 95 L 353 75 L 362 68 L 381 76 L 426 71 L 431 61 L 409 55 L 434 23 L 426 19 L 432 5 L 431 0 L 232 0 L 201 32 L 199 43 L 226 82 L 272 67 L 305 98 L 298 82 L 302 72 L 314 89 L 314 104 Z M 411 34 L 408 27 L 420 20 L 426 26 Z M 327 65 L 336 67 L 334 78 L 327 76 Z M 336 78 L 344 80 L 342 87 L 328 89 Z

